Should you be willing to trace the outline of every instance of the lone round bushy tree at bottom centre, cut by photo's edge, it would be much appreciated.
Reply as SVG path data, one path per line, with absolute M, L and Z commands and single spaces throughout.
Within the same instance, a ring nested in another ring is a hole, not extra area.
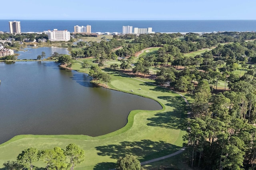
M 126 154 L 116 162 L 118 170 L 140 170 L 140 161 L 135 156 Z

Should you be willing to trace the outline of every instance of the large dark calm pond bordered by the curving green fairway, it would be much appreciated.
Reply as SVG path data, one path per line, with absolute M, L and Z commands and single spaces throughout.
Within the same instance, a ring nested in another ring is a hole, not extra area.
M 104 135 L 123 127 L 131 110 L 162 108 L 54 62 L 0 62 L 0 72 L 0 143 L 20 134 Z

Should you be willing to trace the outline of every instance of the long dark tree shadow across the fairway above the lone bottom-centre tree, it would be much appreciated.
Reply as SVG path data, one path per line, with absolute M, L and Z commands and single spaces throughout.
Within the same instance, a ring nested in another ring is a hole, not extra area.
M 118 145 L 106 145 L 96 147 L 97 153 L 100 156 L 110 156 L 110 158 L 118 159 L 125 154 L 138 156 L 140 162 L 166 156 L 179 150 L 180 147 L 166 143 L 164 141 L 124 141 Z

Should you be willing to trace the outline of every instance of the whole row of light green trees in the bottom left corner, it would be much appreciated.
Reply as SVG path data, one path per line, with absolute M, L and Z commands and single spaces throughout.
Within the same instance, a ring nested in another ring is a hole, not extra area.
M 77 164 L 84 162 L 84 158 L 84 150 L 74 143 L 67 145 L 66 150 L 60 147 L 43 150 L 28 148 L 22 150 L 16 161 L 4 162 L 4 168 L 6 170 L 32 170 L 35 162 L 42 161 L 46 164 L 46 170 L 74 170 Z

